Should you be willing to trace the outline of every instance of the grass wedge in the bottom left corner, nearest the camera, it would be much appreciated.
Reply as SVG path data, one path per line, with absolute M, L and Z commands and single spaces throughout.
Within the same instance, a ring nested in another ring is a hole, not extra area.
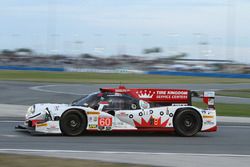
M 122 163 L 108 163 L 93 160 L 48 158 L 39 156 L 0 154 L 1 167 L 145 167 Z

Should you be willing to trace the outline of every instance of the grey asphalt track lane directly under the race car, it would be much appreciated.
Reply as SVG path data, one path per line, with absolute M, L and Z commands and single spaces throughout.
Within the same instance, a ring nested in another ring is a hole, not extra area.
M 21 123 L 21 122 L 20 122 Z M 87 133 L 78 137 L 30 135 L 19 122 L 0 121 L 0 149 L 171 152 L 250 155 L 250 126 L 221 125 L 217 133 L 179 137 L 175 133 Z

